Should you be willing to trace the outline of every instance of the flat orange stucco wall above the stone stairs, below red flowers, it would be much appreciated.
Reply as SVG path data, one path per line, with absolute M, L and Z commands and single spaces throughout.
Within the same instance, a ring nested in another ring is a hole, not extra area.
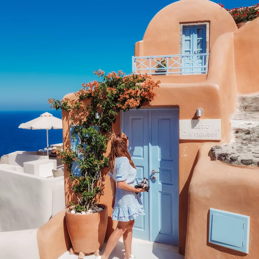
M 234 32 L 234 55 L 238 93 L 258 92 L 259 18 Z

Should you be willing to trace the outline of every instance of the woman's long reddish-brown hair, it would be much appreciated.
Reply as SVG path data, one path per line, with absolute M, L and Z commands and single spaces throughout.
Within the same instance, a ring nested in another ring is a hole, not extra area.
M 127 159 L 130 161 L 131 166 L 136 168 L 131 159 L 130 153 L 128 152 L 127 144 L 127 137 L 124 133 L 117 133 L 113 136 L 111 140 L 111 152 L 109 157 L 109 169 L 111 174 L 114 171 L 115 158 L 117 156 L 127 157 Z

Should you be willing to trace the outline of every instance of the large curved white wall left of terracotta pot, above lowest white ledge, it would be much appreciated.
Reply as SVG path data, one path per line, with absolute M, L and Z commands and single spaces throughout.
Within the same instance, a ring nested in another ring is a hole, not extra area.
M 53 200 L 54 213 L 65 207 L 63 176 L 43 178 L 0 165 L 0 232 L 41 227 L 52 217 Z

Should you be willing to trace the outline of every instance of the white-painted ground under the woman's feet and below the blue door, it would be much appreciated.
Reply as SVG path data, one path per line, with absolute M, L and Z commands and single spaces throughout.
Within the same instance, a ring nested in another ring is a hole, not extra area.
M 101 250 L 101 254 L 104 248 Z M 141 239 L 133 238 L 132 253 L 137 259 L 184 259 L 184 256 L 178 254 L 178 247 L 166 244 L 153 243 Z M 78 255 L 70 255 L 67 251 L 59 259 L 76 259 Z M 95 259 L 94 255 L 85 256 L 84 259 Z M 123 240 L 120 239 L 114 248 L 109 259 L 124 259 Z

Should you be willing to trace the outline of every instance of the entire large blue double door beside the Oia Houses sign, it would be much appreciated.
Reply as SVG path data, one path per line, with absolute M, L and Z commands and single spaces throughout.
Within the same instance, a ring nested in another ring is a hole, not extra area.
M 122 114 L 122 131 L 129 137 L 129 151 L 137 177 L 140 181 L 148 178 L 150 185 L 149 193 L 143 193 L 146 215 L 136 218 L 133 236 L 176 246 L 178 120 L 178 109 L 140 109 Z

